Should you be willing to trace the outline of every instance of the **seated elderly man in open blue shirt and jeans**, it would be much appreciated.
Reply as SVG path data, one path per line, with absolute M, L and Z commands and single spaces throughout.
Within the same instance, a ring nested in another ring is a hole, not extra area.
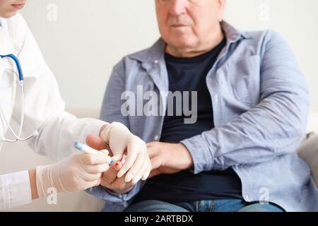
M 317 210 L 296 153 L 309 97 L 288 44 L 232 28 L 225 0 L 155 6 L 161 38 L 114 67 L 101 114 L 148 142 L 151 177 L 125 184 L 110 169 L 90 192 L 105 210 Z

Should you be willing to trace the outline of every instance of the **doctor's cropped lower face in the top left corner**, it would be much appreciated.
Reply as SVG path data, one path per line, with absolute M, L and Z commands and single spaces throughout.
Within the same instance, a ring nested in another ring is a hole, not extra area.
M 22 9 L 27 0 L 0 0 L 0 17 L 11 18 Z

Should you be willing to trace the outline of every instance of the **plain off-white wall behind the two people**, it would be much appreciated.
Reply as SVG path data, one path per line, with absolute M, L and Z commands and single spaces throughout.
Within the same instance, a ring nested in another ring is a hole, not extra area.
M 49 4 L 57 6 L 50 21 Z M 318 1 L 228 0 L 240 29 L 272 28 L 295 50 L 318 112 Z M 68 107 L 100 107 L 112 66 L 158 38 L 154 0 L 29 0 L 22 11 Z

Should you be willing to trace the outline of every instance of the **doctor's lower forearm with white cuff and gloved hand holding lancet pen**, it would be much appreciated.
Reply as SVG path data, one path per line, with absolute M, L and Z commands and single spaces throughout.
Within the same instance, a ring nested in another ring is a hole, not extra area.
M 0 210 L 31 203 L 52 192 L 98 186 L 102 172 L 108 169 L 107 157 L 103 155 L 75 153 L 53 165 L 0 175 Z

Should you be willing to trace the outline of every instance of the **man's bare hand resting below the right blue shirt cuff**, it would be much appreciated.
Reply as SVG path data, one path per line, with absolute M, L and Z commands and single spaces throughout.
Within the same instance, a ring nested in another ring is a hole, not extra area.
M 193 166 L 192 155 L 182 143 L 151 142 L 147 148 L 152 165 L 149 178 L 158 174 L 175 174 Z

